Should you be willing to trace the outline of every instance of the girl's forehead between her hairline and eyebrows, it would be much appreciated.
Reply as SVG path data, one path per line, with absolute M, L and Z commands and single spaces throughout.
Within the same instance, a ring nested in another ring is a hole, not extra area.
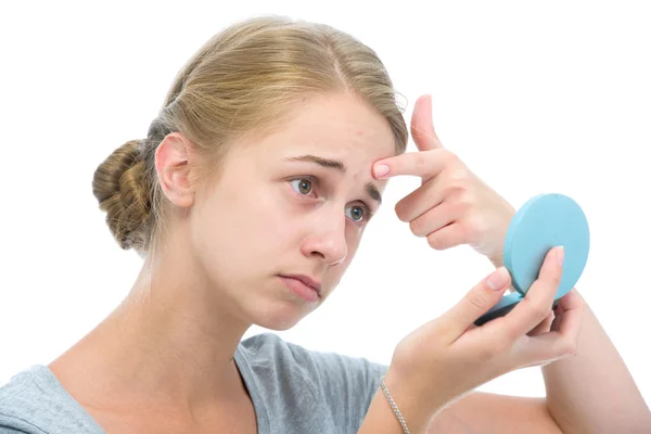
M 295 110 L 276 132 L 261 138 L 267 156 L 310 153 L 345 161 L 352 171 L 394 155 L 388 122 L 358 98 L 346 94 L 314 97 Z M 260 151 L 260 150 L 258 150 Z

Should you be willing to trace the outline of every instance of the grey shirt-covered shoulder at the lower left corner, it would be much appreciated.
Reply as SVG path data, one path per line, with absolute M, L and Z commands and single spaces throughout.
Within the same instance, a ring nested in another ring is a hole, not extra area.
M 0 386 L 0 433 L 66 430 L 94 433 L 97 426 L 48 367 L 34 365 Z

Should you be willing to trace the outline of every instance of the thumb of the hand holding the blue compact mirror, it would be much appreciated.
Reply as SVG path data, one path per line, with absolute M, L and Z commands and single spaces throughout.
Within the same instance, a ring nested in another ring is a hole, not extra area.
M 469 327 L 474 324 L 499 302 L 507 288 L 511 285 L 511 275 L 505 267 L 499 267 L 482 280 L 452 308 L 438 318 L 441 329 L 449 333 L 444 339 L 456 341 Z

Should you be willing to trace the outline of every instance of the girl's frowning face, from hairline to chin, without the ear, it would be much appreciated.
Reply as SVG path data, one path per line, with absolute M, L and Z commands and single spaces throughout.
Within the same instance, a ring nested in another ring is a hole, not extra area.
M 293 327 L 340 282 L 386 183 L 372 164 L 395 153 L 388 123 L 350 95 L 318 97 L 296 113 L 237 143 L 189 217 L 191 253 L 218 303 L 272 330 Z M 296 275 L 320 290 L 283 278 Z

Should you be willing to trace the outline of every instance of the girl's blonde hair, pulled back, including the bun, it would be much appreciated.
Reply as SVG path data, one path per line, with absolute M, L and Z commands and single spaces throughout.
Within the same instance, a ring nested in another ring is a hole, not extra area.
M 386 118 L 396 154 L 407 126 L 388 74 L 373 50 L 328 25 L 283 16 L 235 23 L 213 36 L 179 71 L 148 137 L 115 150 L 92 181 L 120 247 L 148 254 L 164 226 L 155 151 L 181 132 L 196 145 L 205 174 L 218 170 L 229 144 L 251 131 L 282 128 L 310 95 L 359 97 Z

